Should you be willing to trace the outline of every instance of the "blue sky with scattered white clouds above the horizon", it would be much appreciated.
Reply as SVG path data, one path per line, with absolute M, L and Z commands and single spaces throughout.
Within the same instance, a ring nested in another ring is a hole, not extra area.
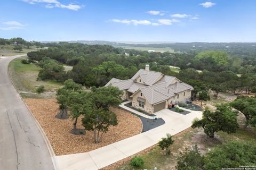
M 1 0 L 0 38 L 255 42 L 255 0 Z

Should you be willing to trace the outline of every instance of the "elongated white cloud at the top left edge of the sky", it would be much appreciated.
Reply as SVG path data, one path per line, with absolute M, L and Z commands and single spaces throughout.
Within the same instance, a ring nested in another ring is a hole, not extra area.
M 62 4 L 57 0 L 22 0 L 23 2 L 29 3 L 29 4 L 36 4 L 36 3 L 47 3 L 45 5 L 46 8 L 54 8 L 54 7 L 59 7 L 59 8 L 67 8 L 69 10 L 73 10 L 73 11 L 78 11 L 79 9 L 82 8 L 82 6 L 80 5 L 76 5 L 76 4 Z

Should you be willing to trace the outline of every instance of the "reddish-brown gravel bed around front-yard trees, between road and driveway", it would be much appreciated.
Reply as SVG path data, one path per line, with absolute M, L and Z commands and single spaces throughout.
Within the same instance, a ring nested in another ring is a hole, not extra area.
M 59 113 L 59 105 L 55 99 L 25 99 L 31 112 L 42 126 L 47 138 L 50 140 L 56 155 L 76 154 L 94 150 L 110 143 L 132 137 L 141 132 L 142 124 L 137 116 L 111 108 L 117 115 L 118 125 L 109 128 L 103 134 L 101 143 L 93 142 L 93 132 L 86 131 L 85 135 L 70 133 L 73 129 L 73 121 L 70 118 L 59 120 L 55 115 Z M 77 123 L 78 129 L 84 129 L 81 125 L 81 118 Z

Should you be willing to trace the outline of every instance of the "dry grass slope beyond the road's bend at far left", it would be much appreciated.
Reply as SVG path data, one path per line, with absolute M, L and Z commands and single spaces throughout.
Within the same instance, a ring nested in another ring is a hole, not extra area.
M 27 54 L 28 52 L 37 50 L 35 46 L 30 46 L 27 48 L 26 46 L 22 46 L 23 50 L 21 52 L 13 50 L 13 47 L 16 45 L 0 45 L 0 56 L 13 56 L 20 54 Z

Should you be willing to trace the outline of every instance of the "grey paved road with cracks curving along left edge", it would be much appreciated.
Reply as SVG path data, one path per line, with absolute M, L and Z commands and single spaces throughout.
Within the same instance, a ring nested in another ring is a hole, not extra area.
M 52 157 L 33 117 L 7 74 L 11 60 L 0 59 L 0 169 L 52 170 Z

